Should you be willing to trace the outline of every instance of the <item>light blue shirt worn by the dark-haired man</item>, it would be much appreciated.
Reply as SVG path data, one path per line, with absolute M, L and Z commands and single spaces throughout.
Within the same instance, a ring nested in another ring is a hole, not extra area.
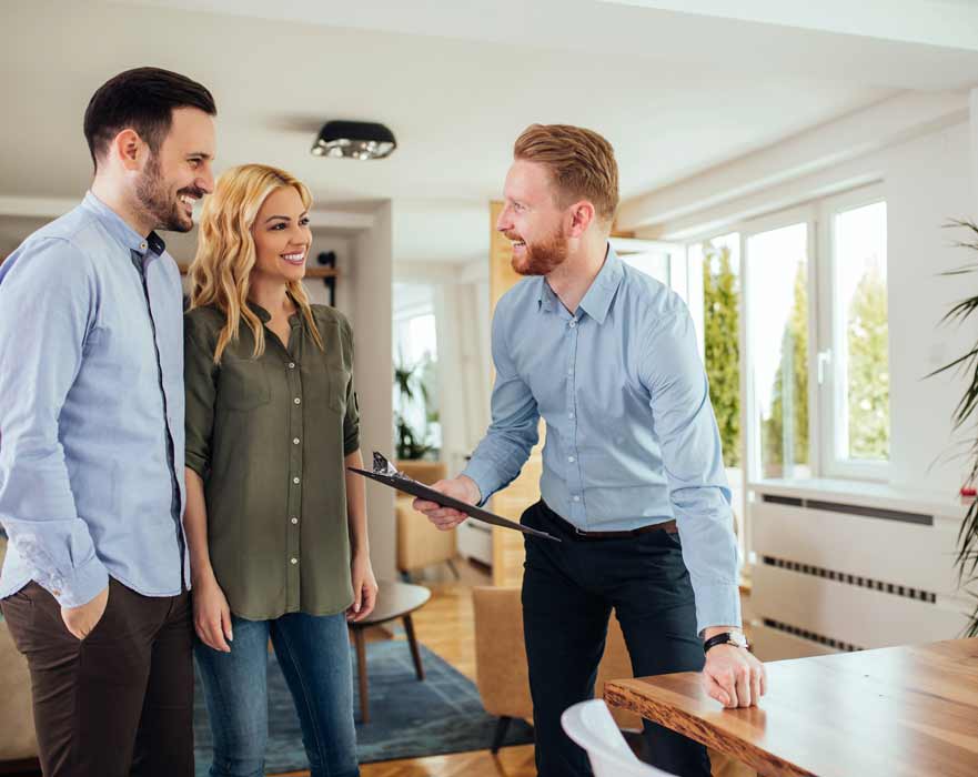
M 180 271 L 93 194 L 0 265 L 0 597 L 190 586 Z

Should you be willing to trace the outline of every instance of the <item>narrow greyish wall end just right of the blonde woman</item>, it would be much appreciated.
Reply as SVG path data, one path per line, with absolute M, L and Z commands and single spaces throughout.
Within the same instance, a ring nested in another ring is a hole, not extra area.
M 377 208 L 372 229 L 352 243 L 349 266 L 342 268 L 337 306 L 350 317 L 356 343 L 354 376 L 360 397 L 361 448 L 367 465 L 373 451 L 391 455 L 394 450 L 394 418 L 391 397 L 393 359 L 391 343 L 392 301 L 392 206 Z M 371 559 L 379 578 L 395 576 L 396 537 L 394 492 L 367 483 L 366 504 Z

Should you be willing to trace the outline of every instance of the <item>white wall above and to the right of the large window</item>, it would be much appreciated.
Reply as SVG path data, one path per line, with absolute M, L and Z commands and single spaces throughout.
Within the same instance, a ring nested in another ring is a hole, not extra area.
M 974 100 L 975 98 L 972 98 Z M 976 110 L 978 115 L 978 110 Z M 950 119 L 948 119 L 950 117 Z M 940 317 L 956 301 L 978 290 L 978 274 L 952 279 L 939 273 L 976 259 L 974 252 L 954 248 L 962 231 L 944 229 L 949 219 L 975 218 L 978 214 L 972 161 L 972 138 L 978 123 L 969 123 L 967 114 L 944 111 L 940 121 L 921 117 L 917 131 L 900 127 L 884 148 L 867 148 L 863 155 L 839 154 L 839 163 L 818 164 L 809 174 L 790 181 L 772 181 L 768 185 L 749 185 L 750 165 L 738 165 L 738 186 L 749 193 L 728 196 L 724 202 L 693 212 L 683 210 L 675 196 L 684 184 L 675 184 L 669 203 L 673 213 L 682 213 L 675 222 L 662 222 L 637 231 L 638 236 L 674 238 L 683 234 L 693 240 L 696 224 L 716 233 L 736 229 L 737 218 L 759 215 L 813 198 L 829 194 L 870 181 L 881 182 L 887 199 L 888 234 L 888 304 L 890 337 L 890 480 L 911 487 L 955 494 L 967 471 L 967 458 L 960 441 L 951 433 L 951 414 L 965 383 L 961 377 L 924 376 L 965 353 L 976 337 L 976 322 L 966 329 L 939 327 Z M 848 118 L 840 125 L 851 125 Z M 854 127 L 854 131 L 857 128 Z M 846 133 L 826 125 L 823 130 L 838 138 L 845 148 Z M 907 138 L 911 138 L 907 140 Z M 819 147 L 817 135 L 809 135 L 810 147 Z M 861 142 L 861 141 L 860 141 Z M 797 170 L 805 168 L 804 145 L 795 144 L 793 159 Z M 779 153 L 773 150 L 773 153 Z M 769 174 L 764 152 L 753 154 L 757 170 Z M 823 154 L 824 158 L 824 154 Z M 727 168 L 732 164 L 728 163 Z M 703 202 L 709 190 L 710 175 L 699 176 L 697 185 L 688 186 L 689 201 Z M 653 202 L 655 194 L 646 195 Z M 764 203 L 769 202 L 765 209 Z M 644 203 L 643 203 L 644 204 Z M 695 205 L 694 205 L 695 206 Z M 633 205 L 634 211 L 634 205 Z M 707 236 L 703 234 L 702 236 Z M 974 436 L 971 437 L 974 440 Z

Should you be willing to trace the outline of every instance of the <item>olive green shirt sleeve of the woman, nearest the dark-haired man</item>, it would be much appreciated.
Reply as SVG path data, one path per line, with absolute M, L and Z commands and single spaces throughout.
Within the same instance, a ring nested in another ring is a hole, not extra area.
M 218 395 L 214 349 L 195 316 L 183 316 L 183 383 L 186 396 L 184 430 L 186 466 L 206 480 L 211 464 L 214 401 Z

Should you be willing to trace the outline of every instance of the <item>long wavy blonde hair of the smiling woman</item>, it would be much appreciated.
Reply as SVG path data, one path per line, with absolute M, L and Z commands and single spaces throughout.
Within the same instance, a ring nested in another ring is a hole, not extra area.
M 251 230 L 269 194 L 282 186 L 295 189 L 306 210 L 312 205 L 312 195 L 302 181 L 266 164 L 242 164 L 228 170 L 218 179 L 214 193 L 204 201 L 196 256 L 190 265 L 190 307 L 215 305 L 224 313 L 226 321 L 214 349 L 214 364 L 221 363 L 228 344 L 238 341 L 242 319 L 254 335 L 254 357 L 265 351 L 264 326 L 248 306 L 255 263 Z M 286 289 L 322 350 L 323 341 L 302 281 L 290 281 Z

